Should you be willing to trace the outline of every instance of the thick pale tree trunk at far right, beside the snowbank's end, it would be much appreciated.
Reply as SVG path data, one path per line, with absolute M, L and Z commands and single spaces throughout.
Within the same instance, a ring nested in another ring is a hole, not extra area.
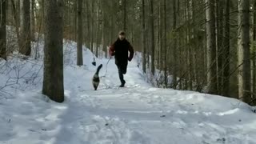
M 250 2 L 238 1 L 238 93 L 250 102 Z

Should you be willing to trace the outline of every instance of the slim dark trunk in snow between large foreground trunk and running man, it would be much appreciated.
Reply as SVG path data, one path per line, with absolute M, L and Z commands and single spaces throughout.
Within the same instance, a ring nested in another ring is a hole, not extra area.
M 82 0 L 77 0 L 77 12 L 78 12 L 78 16 L 77 16 L 77 34 L 78 34 L 78 47 L 77 47 L 77 65 L 78 66 L 82 66 L 83 62 L 82 62 Z

